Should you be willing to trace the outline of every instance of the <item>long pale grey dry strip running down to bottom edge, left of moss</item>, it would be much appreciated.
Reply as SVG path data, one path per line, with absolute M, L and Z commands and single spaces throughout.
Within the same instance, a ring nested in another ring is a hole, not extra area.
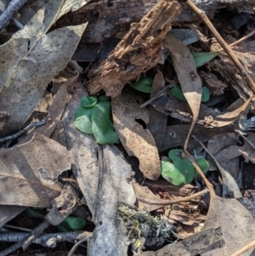
M 90 255 L 127 255 L 130 241 L 127 230 L 116 218 L 121 205 L 133 206 L 136 201 L 132 182 L 132 169 L 115 145 L 104 145 L 100 166 L 97 202 L 94 213 L 94 235 L 90 242 Z

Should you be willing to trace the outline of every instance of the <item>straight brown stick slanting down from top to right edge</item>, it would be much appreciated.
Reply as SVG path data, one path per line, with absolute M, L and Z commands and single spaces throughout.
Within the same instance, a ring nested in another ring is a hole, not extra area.
M 246 82 L 249 84 L 249 87 L 252 89 L 252 92 L 255 93 L 255 83 L 252 80 L 252 77 L 249 75 L 249 73 L 246 71 L 245 67 L 241 64 L 241 61 L 238 60 L 238 58 L 235 56 L 232 48 L 225 43 L 223 37 L 220 36 L 218 31 L 215 29 L 215 27 L 212 25 L 211 21 L 207 18 L 207 14 L 203 12 L 201 9 L 198 9 L 194 3 L 191 2 L 191 0 L 187 0 L 186 2 L 190 9 L 192 9 L 195 14 L 197 14 L 201 20 L 206 24 L 207 28 L 212 32 L 214 37 L 218 40 L 218 43 L 221 45 L 222 48 L 224 48 L 225 52 L 229 55 L 229 58 L 234 62 L 237 69 L 241 72 L 241 75 L 245 77 Z

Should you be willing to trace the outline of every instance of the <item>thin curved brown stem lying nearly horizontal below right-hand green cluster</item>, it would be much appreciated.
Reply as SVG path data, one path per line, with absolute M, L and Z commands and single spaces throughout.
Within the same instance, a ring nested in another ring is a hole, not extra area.
M 196 197 L 199 196 L 204 196 L 205 194 L 207 194 L 208 190 L 205 189 L 203 191 L 199 191 L 193 195 L 190 196 L 185 196 L 182 198 L 177 198 L 177 199 L 171 199 L 171 200 L 161 200 L 161 201 L 152 201 L 150 199 L 144 198 L 142 196 L 136 196 L 136 198 L 141 201 L 141 202 L 145 202 L 148 204 L 154 204 L 154 205 L 170 205 L 170 204 L 175 204 L 175 203 L 179 203 L 179 202 L 188 202 L 192 199 L 195 199 Z

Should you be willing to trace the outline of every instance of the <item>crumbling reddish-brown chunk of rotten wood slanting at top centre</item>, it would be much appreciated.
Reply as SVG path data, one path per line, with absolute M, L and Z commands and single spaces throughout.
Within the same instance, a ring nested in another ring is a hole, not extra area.
M 176 0 L 162 0 L 134 23 L 108 59 L 88 73 L 89 94 L 104 89 L 106 95 L 116 97 L 127 82 L 155 66 L 160 60 L 161 42 L 181 9 L 182 3 Z

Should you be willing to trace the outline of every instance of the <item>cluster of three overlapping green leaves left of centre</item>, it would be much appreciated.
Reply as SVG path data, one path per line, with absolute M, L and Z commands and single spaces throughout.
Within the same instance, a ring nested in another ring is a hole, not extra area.
M 75 126 L 85 134 L 94 134 L 101 145 L 119 143 L 111 121 L 111 102 L 109 97 L 82 97 L 81 106 L 75 113 Z

